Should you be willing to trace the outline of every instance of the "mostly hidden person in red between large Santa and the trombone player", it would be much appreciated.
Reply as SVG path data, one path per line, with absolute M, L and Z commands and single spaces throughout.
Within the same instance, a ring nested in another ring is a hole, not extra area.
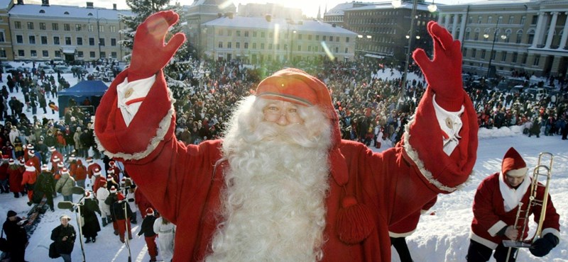
M 437 199 L 437 197 L 432 198 L 421 210 L 417 210 L 403 220 L 388 226 L 388 235 L 391 237 L 391 244 L 395 247 L 400 262 L 413 262 L 413 257 L 410 255 L 410 250 L 408 250 L 406 244 L 406 237 L 414 233 L 420 221 L 420 215 L 430 210 L 436 204 Z

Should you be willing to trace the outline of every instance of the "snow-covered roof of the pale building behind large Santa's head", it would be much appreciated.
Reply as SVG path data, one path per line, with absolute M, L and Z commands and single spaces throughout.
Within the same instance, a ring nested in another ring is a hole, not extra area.
M 329 23 L 323 23 L 320 21 L 301 21 L 302 23 L 294 23 L 290 25 L 294 30 L 300 32 L 317 32 L 317 33 L 336 33 L 336 34 L 351 34 L 357 35 L 350 30 L 345 28 L 333 27 Z M 244 16 L 234 16 L 233 18 L 222 17 L 215 20 L 204 23 L 204 25 L 211 26 L 224 26 L 228 28 L 256 28 L 256 29 L 271 29 L 275 25 L 280 25 L 280 28 L 286 28 L 288 26 L 288 21 L 285 19 L 273 18 L 271 22 L 266 21 L 266 18 L 261 17 L 244 17 Z

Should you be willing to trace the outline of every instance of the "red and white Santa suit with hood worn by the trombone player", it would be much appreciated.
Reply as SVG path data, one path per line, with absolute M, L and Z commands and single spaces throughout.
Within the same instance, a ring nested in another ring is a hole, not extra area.
M 516 159 L 517 161 L 520 159 L 522 166 L 513 163 L 511 159 Z M 519 203 L 523 203 L 523 210 L 526 210 L 528 207 L 532 177 L 528 175 L 524 163 L 518 152 L 511 148 L 503 157 L 501 172 L 493 173 L 491 176 L 481 181 L 474 197 L 474 220 L 471 222 L 471 240 L 483 244 L 490 249 L 496 249 L 498 244 L 501 244 L 503 240 L 509 240 L 506 236 L 501 236 L 497 233 L 504 227 L 513 226 L 515 224 Z M 525 180 L 523 183 L 520 183 L 518 188 L 511 188 L 508 186 L 508 183 L 506 183 L 504 174 L 520 168 L 524 168 L 522 173 L 523 176 L 525 176 Z M 536 199 L 542 200 L 544 199 L 545 187 L 541 183 L 539 184 Z M 552 204 L 550 195 L 548 195 L 547 201 L 545 221 L 542 224 L 542 236 L 547 233 L 552 233 L 559 239 L 560 217 L 556 212 L 554 204 Z M 541 210 L 542 205 L 536 205 L 530 208 L 528 217 L 534 214 L 535 222 L 538 223 Z M 524 216 L 524 214 L 522 215 Z M 527 223 L 527 230 L 522 236 L 522 239 L 525 239 L 528 237 L 529 221 L 522 220 L 524 220 L 524 218 L 520 219 L 518 225 L 520 225 L 522 229 L 522 225 Z

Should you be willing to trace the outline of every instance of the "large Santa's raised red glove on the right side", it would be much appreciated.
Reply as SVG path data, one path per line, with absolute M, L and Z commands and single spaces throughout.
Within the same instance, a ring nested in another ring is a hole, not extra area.
M 445 110 L 458 111 L 464 103 L 461 80 L 461 50 L 458 40 L 434 21 L 428 23 L 428 33 L 434 42 L 434 59 L 417 49 L 413 58 L 422 69 L 430 89 L 436 93 L 436 102 Z

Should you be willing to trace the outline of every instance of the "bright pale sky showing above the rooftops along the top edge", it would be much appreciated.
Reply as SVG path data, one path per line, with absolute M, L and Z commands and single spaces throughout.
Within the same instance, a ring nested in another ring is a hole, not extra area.
M 50 4 L 60 4 L 60 5 L 71 5 L 71 6 L 86 6 L 86 2 L 90 1 L 94 3 L 95 7 L 104 7 L 104 8 L 112 8 L 112 4 L 116 4 L 117 8 L 119 9 L 127 9 L 129 8 L 126 5 L 125 0 L 50 0 Z M 231 1 L 231 0 L 228 0 Z M 361 0 L 360 0 L 361 1 Z M 380 1 L 380 0 L 379 0 Z M 431 2 L 432 0 L 426 0 L 426 2 Z M 475 0 L 434 0 L 435 3 L 439 4 L 464 4 L 469 1 Z M 193 3 L 193 0 L 172 0 L 170 4 L 175 4 L 179 2 L 182 5 L 190 5 Z M 295 8 L 302 8 L 302 13 L 307 16 L 316 17 L 318 8 L 321 7 L 322 16 L 325 11 L 325 6 L 327 5 L 327 10 L 334 8 L 337 4 L 343 4 L 346 0 L 233 0 L 235 6 L 239 6 L 239 4 L 249 4 L 249 3 L 280 3 L 285 6 L 291 6 Z M 362 2 L 376 2 L 376 1 L 362 1 Z M 24 3 L 41 3 L 40 0 L 24 0 Z

